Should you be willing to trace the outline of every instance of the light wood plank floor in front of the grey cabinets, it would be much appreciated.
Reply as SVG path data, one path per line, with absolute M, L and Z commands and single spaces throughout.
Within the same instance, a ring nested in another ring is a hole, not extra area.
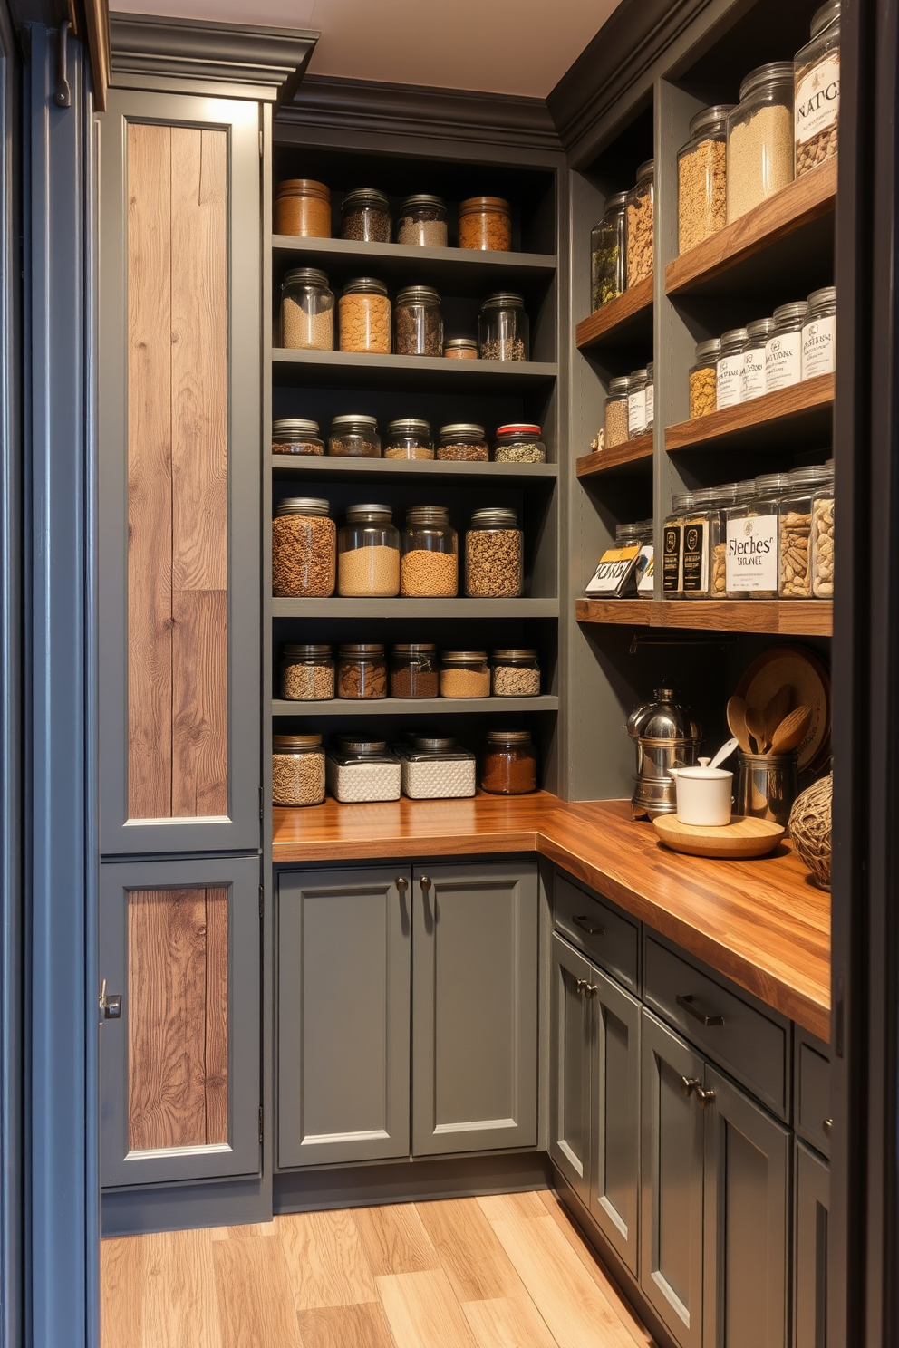
M 102 1348 L 648 1348 L 551 1193 L 102 1242 Z

